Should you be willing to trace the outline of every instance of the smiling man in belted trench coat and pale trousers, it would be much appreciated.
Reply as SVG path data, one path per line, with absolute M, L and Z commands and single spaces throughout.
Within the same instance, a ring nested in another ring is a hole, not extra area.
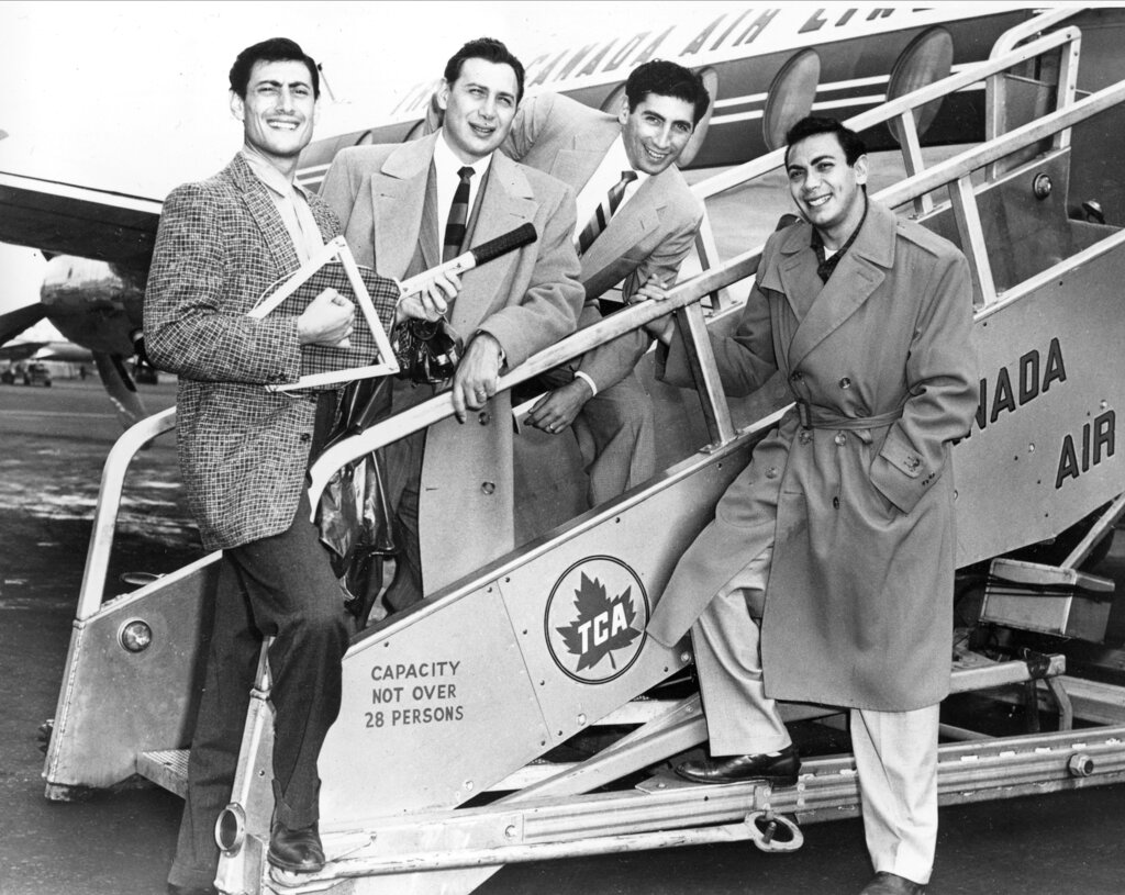
M 687 779 L 795 781 L 774 699 L 850 708 L 876 871 L 863 893 L 920 893 L 952 653 L 950 450 L 976 406 L 968 264 L 867 201 L 853 132 L 806 118 L 788 145 L 804 220 L 771 236 L 737 331 L 712 345 L 729 394 L 780 370 L 796 406 L 681 559 L 648 633 L 670 647 L 692 629 L 712 757 L 681 766 Z M 658 374 L 690 386 L 670 325 L 660 341 Z

